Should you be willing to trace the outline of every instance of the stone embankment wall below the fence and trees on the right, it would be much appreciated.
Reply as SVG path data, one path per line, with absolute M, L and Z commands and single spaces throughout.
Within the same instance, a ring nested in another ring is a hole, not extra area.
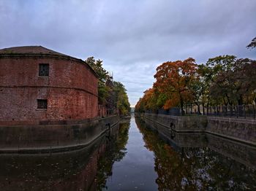
M 256 120 L 224 117 L 177 117 L 164 114 L 142 114 L 169 131 L 177 133 L 211 133 L 256 147 Z

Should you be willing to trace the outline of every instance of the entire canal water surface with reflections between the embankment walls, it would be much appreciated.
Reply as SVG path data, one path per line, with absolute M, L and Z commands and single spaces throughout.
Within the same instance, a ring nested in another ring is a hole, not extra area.
M 0 190 L 256 190 L 255 157 L 216 136 L 166 139 L 132 116 L 80 150 L 0 155 Z

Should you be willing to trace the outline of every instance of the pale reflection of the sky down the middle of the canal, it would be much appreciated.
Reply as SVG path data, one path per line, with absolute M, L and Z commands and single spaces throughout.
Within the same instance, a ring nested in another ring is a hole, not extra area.
M 127 155 L 113 164 L 108 190 L 157 190 L 154 153 L 144 147 L 143 136 L 132 118 L 127 142 Z

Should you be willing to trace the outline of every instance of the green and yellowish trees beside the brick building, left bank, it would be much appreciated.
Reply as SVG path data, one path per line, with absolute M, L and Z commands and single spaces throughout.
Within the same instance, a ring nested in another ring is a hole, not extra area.
M 121 115 L 127 115 L 130 111 L 130 105 L 127 90 L 121 82 L 113 81 L 113 77 L 106 71 L 101 60 L 95 60 L 89 57 L 85 61 L 91 66 L 98 75 L 98 102 L 105 106 L 108 114 L 118 112 Z

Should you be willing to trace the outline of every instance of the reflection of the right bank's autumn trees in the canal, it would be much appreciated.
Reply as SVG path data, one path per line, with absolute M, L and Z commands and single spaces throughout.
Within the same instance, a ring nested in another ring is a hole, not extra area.
M 246 190 L 255 188 L 256 171 L 208 148 L 174 150 L 135 119 L 146 147 L 154 152 L 159 190 Z

